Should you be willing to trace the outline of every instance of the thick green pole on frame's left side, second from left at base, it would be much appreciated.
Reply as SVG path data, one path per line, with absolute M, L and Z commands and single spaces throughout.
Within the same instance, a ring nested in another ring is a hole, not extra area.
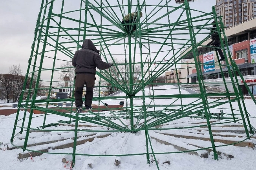
M 46 49 L 46 43 L 47 43 L 47 37 L 48 37 L 47 34 L 48 34 L 48 31 L 49 31 L 49 24 L 50 24 L 50 21 L 51 21 L 51 14 L 52 14 L 52 10 L 53 10 L 53 2 L 54 1 L 51 0 L 51 5 L 49 7 L 47 27 L 46 27 L 46 35 L 44 37 L 44 45 L 43 45 L 43 48 L 42 48 L 42 56 L 41 56 L 40 65 L 39 65 L 39 68 L 38 68 L 38 76 L 37 76 L 37 82 L 36 82 L 36 85 L 35 85 L 35 92 L 34 92 L 34 95 L 33 95 L 33 99 L 31 101 L 31 110 L 30 110 L 30 114 L 29 114 L 29 121 L 28 121 L 28 124 L 27 124 L 27 132 L 26 132 L 26 137 L 25 137 L 25 141 L 24 141 L 23 151 L 25 151 L 26 147 L 27 147 L 27 140 L 28 140 L 28 136 L 29 136 L 29 128 L 30 128 L 30 125 L 31 125 L 33 110 L 35 108 L 35 99 L 36 99 L 36 96 L 37 96 L 37 88 L 38 88 L 38 85 L 39 85 L 41 69 L 42 69 L 42 65 L 43 65 L 43 61 L 44 61 L 44 53 L 45 53 L 45 49 Z

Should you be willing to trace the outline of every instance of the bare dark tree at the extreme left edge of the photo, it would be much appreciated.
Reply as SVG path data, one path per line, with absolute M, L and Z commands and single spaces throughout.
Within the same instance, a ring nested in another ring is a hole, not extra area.
M 11 94 L 11 90 L 13 87 L 13 75 L 12 74 L 3 74 L 1 81 L 0 81 L 0 87 L 2 87 L 4 91 L 4 95 L 7 98 L 7 103 L 9 103 L 9 96 Z

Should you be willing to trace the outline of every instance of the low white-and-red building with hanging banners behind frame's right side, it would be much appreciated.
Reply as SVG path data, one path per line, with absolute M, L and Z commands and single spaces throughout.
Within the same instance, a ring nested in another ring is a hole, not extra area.
M 248 82 L 247 84 L 249 85 L 251 92 L 256 95 L 256 18 L 226 29 L 225 34 L 228 38 L 232 60 L 238 65 L 243 78 Z M 202 45 L 206 45 L 209 41 L 210 40 L 204 42 Z M 187 50 L 181 52 L 181 54 L 185 53 Z M 199 47 L 197 50 L 199 52 L 200 63 L 206 64 L 207 61 L 205 60 L 208 60 L 208 58 L 209 62 L 212 61 L 212 63 L 218 63 L 216 52 L 213 48 Z M 227 51 L 223 52 L 227 53 Z M 197 82 L 197 74 L 195 65 L 193 64 L 194 57 L 192 53 L 189 53 L 187 56 L 184 56 L 184 58 L 187 58 L 187 61 L 181 64 L 183 83 L 195 83 Z M 221 65 L 226 65 L 224 62 L 225 61 L 221 61 Z M 230 78 L 227 72 L 227 67 L 221 67 L 225 76 L 225 81 L 229 82 Z M 210 67 L 209 65 L 204 65 L 201 67 L 201 70 L 204 82 L 219 82 L 220 84 L 216 84 L 216 86 L 225 89 L 224 86 L 221 87 L 221 85 L 223 85 L 223 79 L 218 64 L 210 65 Z M 239 85 L 243 90 L 243 94 L 248 95 L 248 91 L 241 80 L 239 80 Z M 232 90 L 231 86 L 232 85 L 228 85 L 230 90 Z

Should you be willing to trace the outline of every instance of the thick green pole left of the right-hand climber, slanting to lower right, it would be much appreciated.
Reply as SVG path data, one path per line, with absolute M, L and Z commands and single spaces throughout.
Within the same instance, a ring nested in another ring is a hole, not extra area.
M 188 4 L 188 0 L 185 0 L 185 8 L 186 8 L 188 29 L 189 29 L 189 33 L 190 33 L 192 49 L 196 49 L 196 47 L 194 45 L 193 34 L 192 34 L 192 29 L 193 28 L 191 27 L 191 23 L 190 23 L 190 15 L 189 15 L 190 7 L 189 7 L 189 4 Z M 195 65 L 196 65 L 196 73 L 197 73 L 198 84 L 199 84 L 200 92 L 201 92 L 201 99 L 202 99 L 203 107 L 205 108 L 205 116 L 206 116 L 206 119 L 207 119 L 207 126 L 208 126 L 208 130 L 209 130 L 210 140 L 211 140 L 211 143 L 212 143 L 212 150 L 213 150 L 213 154 L 214 154 L 214 159 L 218 160 L 218 154 L 216 152 L 216 147 L 215 147 L 215 144 L 214 144 L 214 139 L 213 139 L 213 136 L 212 136 L 212 129 L 211 129 L 209 116 L 208 116 L 205 91 L 203 89 L 202 82 L 201 82 L 201 77 L 200 77 L 201 72 L 199 72 L 199 69 L 198 69 L 199 64 L 197 63 L 197 56 L 196 56 L 196 51 L 195 50 L 193 50 L 193 56 L 194 56 Z

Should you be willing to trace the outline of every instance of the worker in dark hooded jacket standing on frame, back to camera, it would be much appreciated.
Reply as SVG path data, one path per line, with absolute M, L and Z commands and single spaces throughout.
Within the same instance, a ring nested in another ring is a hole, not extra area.
M 93 98 L 93 88 L 95 83 L 96 67 L 100 70 L 108 69 L 113 64 L 105 63 L 101 60 L 99 50 L 94 46 L 90 39 L 85 39 L 82 49 L 75 52 L 72 60 L 72 65 L 75 67 L 75 107 L 77 113 L 82 112 L 82 91 L 86 85 L 86 95 L 84 105 L 86 110 L 91 110 Z

